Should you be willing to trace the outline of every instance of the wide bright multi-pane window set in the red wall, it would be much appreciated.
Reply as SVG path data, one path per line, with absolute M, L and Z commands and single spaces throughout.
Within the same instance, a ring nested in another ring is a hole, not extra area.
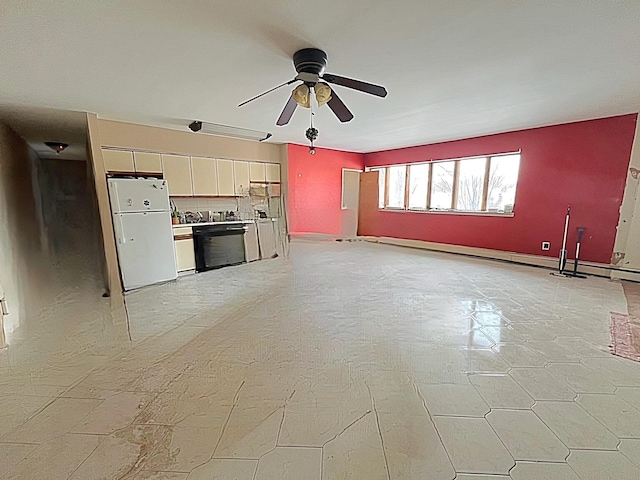
M 520 153 L 376 167 L 379 208 L 511 213 Z

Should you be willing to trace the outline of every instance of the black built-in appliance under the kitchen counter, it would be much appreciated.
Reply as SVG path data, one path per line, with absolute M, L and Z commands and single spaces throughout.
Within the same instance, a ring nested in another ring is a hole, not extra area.
M 246 262 L 242 223 L 193 226 L 196 272 Z

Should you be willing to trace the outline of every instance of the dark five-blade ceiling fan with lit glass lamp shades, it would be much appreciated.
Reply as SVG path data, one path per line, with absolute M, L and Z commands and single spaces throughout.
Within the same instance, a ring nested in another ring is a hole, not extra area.
M 342 100 L 340 100 L 340 97 L 337 95 L 335 90 L 327 85 L 327 83 L 369 93 L 371 95 L 376 95 L 377 97 L 387 96 L 387 90 L 380 85 L 341 77 L 331 73 L 324 73 L 324 69 L 327 66 L 327 54 L 317 48 L 303 48 L 302 50 L 298 50 L 293 54 L 293 65 L 295 66 L 296 72 L 298 72 L 294 79 L 267 90 L 260 95 L 256 95 L 255 97 L 242 102 L 238 107 L 246 105 L 263 95 L 271 93 L 286 85 L 291 85 L 295 82 L 302 82 L 291 92 L 291 97 L 289 97 L 289 101 L 284 106 L 284 110 L 282 110 L 276 125 L 283 126 L 289 123 L 289 120 L 291 120 L 293 112 L 296 111 L 298 105 L 310 108 L 312 91 L 316 95 L 318 106 L 321 107 L 322 105 L 327 104 L 341 122 L 348 122 L 353 118 L 353 114 Z

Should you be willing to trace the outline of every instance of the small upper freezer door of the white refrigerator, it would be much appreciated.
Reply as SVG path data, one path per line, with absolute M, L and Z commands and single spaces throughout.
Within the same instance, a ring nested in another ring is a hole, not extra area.
M 113 213 L 170 210 L 166 180 L 110 178 L 108 184 Z

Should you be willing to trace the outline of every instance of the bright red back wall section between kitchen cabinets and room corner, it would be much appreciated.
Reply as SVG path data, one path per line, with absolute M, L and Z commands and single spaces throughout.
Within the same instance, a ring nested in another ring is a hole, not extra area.
M 363 154 L 288 145 L 289 231 L 340 235 L 342 210 L 342 169 L 362 170 Z

